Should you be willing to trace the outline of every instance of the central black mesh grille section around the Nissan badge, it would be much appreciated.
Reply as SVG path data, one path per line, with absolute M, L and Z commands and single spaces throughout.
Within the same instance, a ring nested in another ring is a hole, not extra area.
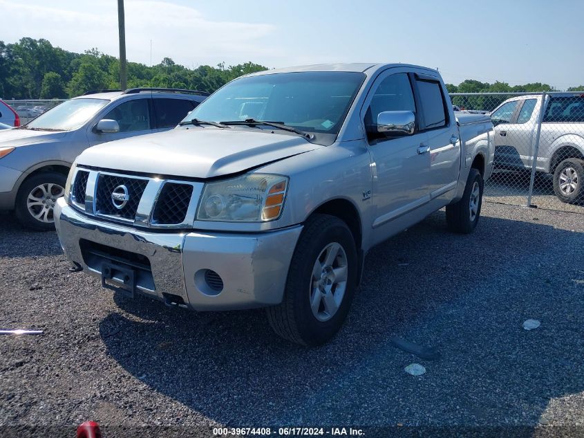
M 100 215 L 110 215 L 122 217 L 124 219 L 135 219 L 136 210 L 140 198 L 144 193 L 148 181 L 146 179 L 126 178 L 109 174 L 100 174 L 97 180 L 97 191 L 95 194 L 95 209 Z M 111 194 L 115 188 L 125 185 L 128 189 L 129 200 L 122 208 L 115 208 L 111 199 Z

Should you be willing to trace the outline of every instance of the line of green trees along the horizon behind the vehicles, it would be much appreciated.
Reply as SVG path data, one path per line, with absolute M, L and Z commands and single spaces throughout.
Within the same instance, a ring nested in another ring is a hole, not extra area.
M 204 65 L 187 69 L 165 57 L 155 66 L 129 62 L 128 86 L 212 92 L 238 76 L 263 70 L 267 70 L 267 67 L 253 62 L 227 67 L 221 63 L 215 67 Z M 64 99 L 86 91 L 117 89 L 119 86 L 120 62 L 97 48 L 73 53 L 54 47 L 46 39 L 27 37 L 14 44 L 0 41 L 0 97 L 5 99 Z M 540 82 L 510 86 L 506 82 L 489 84 L 478 80 L 465 80 L 458 85 L 446 84 L 446 88 L 449 93 L 556 91 L 549 84 Z M 584 86 L 572 87 L 567 91 L 584 91 Z M 498 100 L 490 99 L 488 102 Z M 469 109 L 487 104 L 486 100 L 461 102 Z

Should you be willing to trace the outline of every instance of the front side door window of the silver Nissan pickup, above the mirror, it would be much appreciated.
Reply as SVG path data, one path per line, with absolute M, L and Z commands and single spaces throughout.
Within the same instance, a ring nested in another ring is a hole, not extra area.
M 384 111 L 413 111 L 414 95 L 407 73 L 386 77 L 375 90 L 365 116 L 365 125 L 377 124 L 377 116 Z

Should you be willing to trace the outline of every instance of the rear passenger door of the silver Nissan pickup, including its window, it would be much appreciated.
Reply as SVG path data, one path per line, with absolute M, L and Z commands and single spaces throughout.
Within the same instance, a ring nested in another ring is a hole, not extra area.
M 415 90 L 422 112 L 420 129 L 427 134 L 431 199 L 452 199 L 460 173 L 460 139 L 456 120 L 451 120 L 446 89 L 437 77 L 416 74 Z

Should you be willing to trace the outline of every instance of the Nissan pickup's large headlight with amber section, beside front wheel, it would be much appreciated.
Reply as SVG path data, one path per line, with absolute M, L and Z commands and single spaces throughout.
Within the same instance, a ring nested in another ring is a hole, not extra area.
M 199 221 L 263 222 L 278 219 L 284 207 L 288 178 L 247 174 L 205 184 L 197 210 Z

